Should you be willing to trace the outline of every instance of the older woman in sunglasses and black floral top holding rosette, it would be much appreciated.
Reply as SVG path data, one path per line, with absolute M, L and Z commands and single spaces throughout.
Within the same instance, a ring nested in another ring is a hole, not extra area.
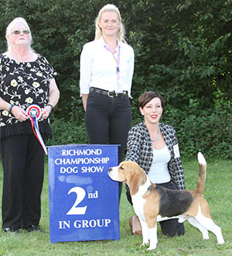
M 41 108 L 39 131 L 51 137 L 49 113 L 59 100 L 56 72 L 31 48 L 25 19 L 15 18 L 6 29 L 8 50 L 0 55 L 0 139 L 4 171 L 2 228 L 5 232 L 39 230 L 44 151 L 33 134 L 26 109 Z

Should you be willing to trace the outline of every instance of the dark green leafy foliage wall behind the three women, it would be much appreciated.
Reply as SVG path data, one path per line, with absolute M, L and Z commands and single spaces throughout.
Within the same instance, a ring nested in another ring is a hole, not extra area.
M 5 29 L 22 16 L 32 47 L 55 67 L 60 102 L 52 115 L 49 144 L 87 143 L 79 94 L 79 60 L 94 40 L 94 19 L 105 0 L 0 0 L 0 50 Z M 121 11 L 127 41 L 135 50 L 131 108 L 142 117 L 139 95 L 165 98 L 162 122 L 176 128 L 184 156 L 232 158 L 232 0 L 111 0 Z

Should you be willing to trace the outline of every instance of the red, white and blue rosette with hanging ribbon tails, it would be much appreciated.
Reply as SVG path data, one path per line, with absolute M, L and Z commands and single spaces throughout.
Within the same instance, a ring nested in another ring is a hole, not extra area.
M 43 142 L 43 137 L 39 133 L 39 125 L 38 125 L 38 120 L 42 116 L 42 109 L 38 105 L 33 104 L 26 109 L 26 113 L 31 119 L 33 133 L 36 135 L 36 138 L 39 140 L 39 143 L 43 147 L 45 154 L 47 154 L 46 146 Z

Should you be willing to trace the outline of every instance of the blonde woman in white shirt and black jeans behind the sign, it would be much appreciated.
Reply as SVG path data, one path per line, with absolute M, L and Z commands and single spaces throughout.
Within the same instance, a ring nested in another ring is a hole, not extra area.
M 90 144 L 121 145 L 120 162 L 131 128 L 134 50 L 125 43 L 125 29 L 115 5 L 105 5 L 95 25 L 95 40 L 84 45 L 80 56 L 85 124 Z

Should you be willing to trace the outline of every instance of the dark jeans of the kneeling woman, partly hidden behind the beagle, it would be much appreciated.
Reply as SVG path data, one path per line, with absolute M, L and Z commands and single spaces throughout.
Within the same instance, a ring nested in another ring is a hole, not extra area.
M 166 189 L 174 189 L 174 190 L 178 189 L 177 185 L 172 182 L 166 182 L 159 185 L 161 185 Z M 128 201 L 131 203 L 131 205 L 133 205 L 131 201 L 131 195 L 128 189 L 127 189 L 126 195 L 128 197 Z M 178 222 L 178 219 L 164 220 L 164 221 L 161 221 L 159 224 L 160 224 L 162 233 L 165 234 L 165 236 L 174 237 L 176 235 L 182 236 L 183 234 L 185 234 L 185 227 L 183 223 Z

